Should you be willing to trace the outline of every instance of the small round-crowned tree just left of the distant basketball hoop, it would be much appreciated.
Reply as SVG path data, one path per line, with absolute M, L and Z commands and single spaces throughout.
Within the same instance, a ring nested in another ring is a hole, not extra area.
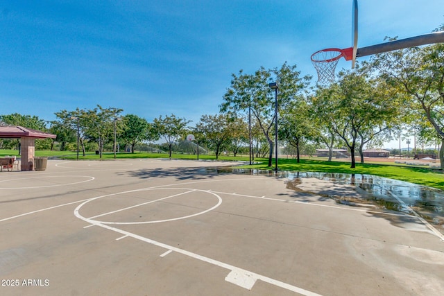
M 163 119 L 162 115 L 158 119 L 154 119 L 155 130 L 167 141 L 170 159 L 173 143 L 185 133 L 185 129 L 190 122 L 185 118 L 177 118 L 174 114 L 171 114 L 171 116 L 166 115 Z

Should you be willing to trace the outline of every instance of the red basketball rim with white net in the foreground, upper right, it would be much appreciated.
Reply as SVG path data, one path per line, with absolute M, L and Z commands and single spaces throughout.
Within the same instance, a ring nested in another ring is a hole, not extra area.
M 340 58 L 350 60 L 349 49 L 322 49 L 311 55 L 311 62 L 318 73 L 318 82 L 327 84 L 334 81 L 334 70 Z

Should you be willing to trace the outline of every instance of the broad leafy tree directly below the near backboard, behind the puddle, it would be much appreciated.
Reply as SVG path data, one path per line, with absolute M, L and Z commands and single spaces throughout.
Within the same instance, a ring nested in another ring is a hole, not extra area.
M 364 143 L 386 130 L 394 116 L 389 97 L 375 92 L 374 87 L 375 81 L 368 79 L 367 71 L 341 71 L 338 82 L 319 88 L 312 102 L 316 114 L 348 146 L 352 168 L 356 166 L 357 140 Z

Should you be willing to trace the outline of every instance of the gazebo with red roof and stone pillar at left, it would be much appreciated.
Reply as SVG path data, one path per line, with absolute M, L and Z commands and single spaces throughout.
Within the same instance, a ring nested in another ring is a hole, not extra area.
M 22 171 L 32 171 L 34 168 L 35 139 L 56 139 L 56 134 L 40 132 L 19 125 L 0 125 L 0 138 L 20 139 L 20 155 Z

